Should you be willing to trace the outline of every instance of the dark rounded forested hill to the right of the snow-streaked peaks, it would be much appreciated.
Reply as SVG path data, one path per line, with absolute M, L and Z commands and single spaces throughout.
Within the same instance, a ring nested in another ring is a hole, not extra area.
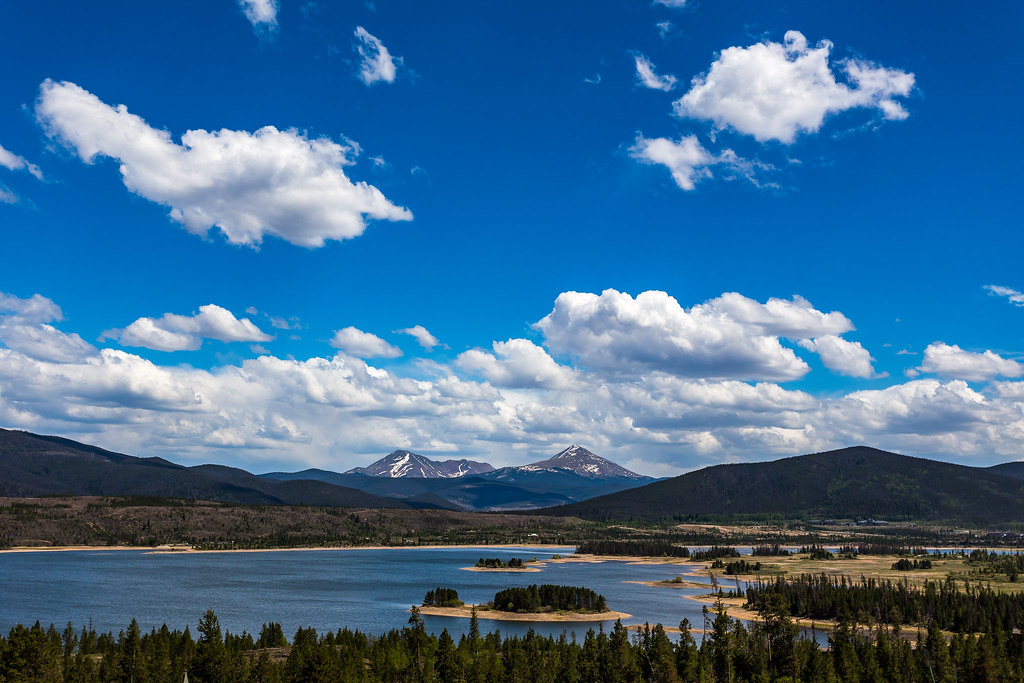
M 716 465 L 544 512 L 593 520 L 777 515 L 1005 524 L 1024 522 L 1024 481 L 990 469 L 855 446 Z

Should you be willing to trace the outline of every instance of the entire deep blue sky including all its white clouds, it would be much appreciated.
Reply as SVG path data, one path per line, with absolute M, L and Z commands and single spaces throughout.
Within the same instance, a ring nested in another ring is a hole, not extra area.
M 1024 11 L 765 5 L 5 7 L 0 425 L 1019 459 Z

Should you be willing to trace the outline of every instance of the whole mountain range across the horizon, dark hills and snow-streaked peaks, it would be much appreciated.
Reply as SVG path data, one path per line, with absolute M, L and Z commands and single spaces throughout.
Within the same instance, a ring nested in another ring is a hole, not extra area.
M 547 460 L 498 469 L 396 451 L 345 473 L 256 475 L 0 429 L 0 497 L 53 495 L 353 508 L 545 508 L 538 512 L 597 521 L 775 516 L 992 526 L 1024 520 L 1024 463 L 968 467 L 853 446 L 653 480 L 572 445 Z

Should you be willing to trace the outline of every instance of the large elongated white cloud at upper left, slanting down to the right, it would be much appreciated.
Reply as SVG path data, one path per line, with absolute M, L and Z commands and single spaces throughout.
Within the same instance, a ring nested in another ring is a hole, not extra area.
M 47 80 L 36 116 L 86 163 L 120 162 L 125 186 L 171 208 L 196 234 L 217 226 L 228 242 L 257 245 L 271 234 L 303 247 L 362 233 L 366 218 L 411 220 L 373 185 L 345 175 L 348 147 L 295 130 L 189 130 L 181 144 L 123 105 L 74 83 Z

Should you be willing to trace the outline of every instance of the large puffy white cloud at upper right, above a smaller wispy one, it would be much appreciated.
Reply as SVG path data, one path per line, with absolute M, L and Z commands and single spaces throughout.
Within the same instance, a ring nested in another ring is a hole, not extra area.
M 913 88 L 913 74 L 868 61 L 839 62 L 847 83 L 828 63 L 831 43 L 809 47 L 797 31 L 782 43 L 729 47 L 707 74 L 693 79 L 675 104 L 679 117 L 707 119 L 759 141 L 790 144 L 801 132 L 815 132 L 826 117 L 854 108 L 879 110 L 886 119 L 905 119 L 896 97 Z

